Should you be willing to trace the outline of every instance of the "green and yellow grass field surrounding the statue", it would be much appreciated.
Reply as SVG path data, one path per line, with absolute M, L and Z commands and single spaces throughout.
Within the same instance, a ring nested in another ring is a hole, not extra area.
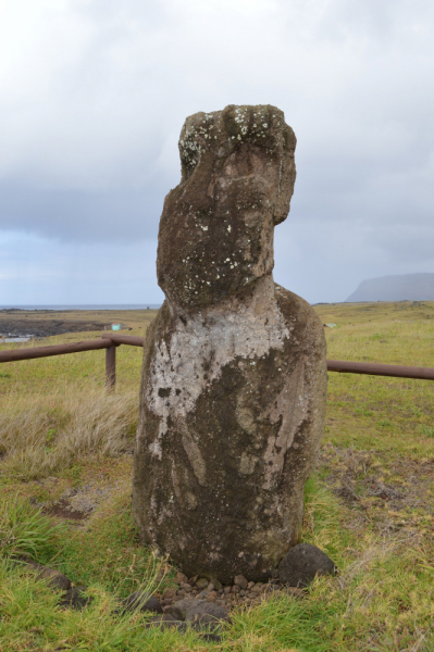
M 325 329 L 330 359 L 434 367 L 433 302 L 315 310 L 337 325 Z M 135 326 L 128 335 L 142 335 L 146 324 Z M 103 351 L 0 365 L 0 652 L 433 652 L 434 384 L 424 380 L 330 374 L 301 538 L 334 559 L 336 577 L 318 579 L 303 600 L 234 613 L 222 643 L 115 615 L 115 595 L 152 582 L 162 591 L 174 575 L 139 546 L 131 516 L 140 362 L 140 349 L 117 349 L 112 396 Z M 62 499 L 90 515 L 50 516 Z M 88 586 L 90 606 L 59 609 L 58 595 L 8 563 L 12 549 Z

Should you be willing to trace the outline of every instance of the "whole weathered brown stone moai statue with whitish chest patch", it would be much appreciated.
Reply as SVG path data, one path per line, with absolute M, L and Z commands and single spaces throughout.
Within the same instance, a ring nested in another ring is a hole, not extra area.
M 296 138 L 270 105 L 187 117 L 160 221 L 133 509 L 188 577 L 263 580 L 298 542 L 324 427 L 323 326 L 275 285 Z

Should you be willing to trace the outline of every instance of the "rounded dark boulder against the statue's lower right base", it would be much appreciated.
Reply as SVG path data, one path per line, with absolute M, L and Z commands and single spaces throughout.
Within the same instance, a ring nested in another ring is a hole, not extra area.
M 278 579 L 290 587 L 306 587 L 315 575 L 335 573 L 334 562 L 317 546 L 299 543 L 278 564 Z

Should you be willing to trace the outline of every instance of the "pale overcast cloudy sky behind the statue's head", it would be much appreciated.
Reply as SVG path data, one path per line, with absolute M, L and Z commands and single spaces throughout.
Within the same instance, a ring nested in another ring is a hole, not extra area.
M 0 304 L 158 303 L 187 115 L 297 136 L 274 278 L 311 302 L 434 272 L 432 0 L 0 0 Z

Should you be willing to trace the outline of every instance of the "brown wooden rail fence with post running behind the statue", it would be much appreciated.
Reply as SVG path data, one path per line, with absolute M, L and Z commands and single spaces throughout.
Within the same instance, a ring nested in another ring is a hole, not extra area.
M 101 339 L 74 342 L 72 344 L 53 344 L 51 347 L 35 347 L 33 349 L 11 349 L 0 352 L 1 362 L 16 362 L 18 360 L 33 360 L 49 358 L 50 355 L 64 355 L 106 349 L 106 386 L 111 389 L 116 381 L 116 347 L 142 347 L 144 337 L 133 335 L 104 334 Z M 348 362 L 345 360 L 327 360 L 327 371 L 342 374 L 369 374 L 371 376 L 393 376 L 395 378 L 418 378 L 434 380 L 434 368 L 413 367 L 399 364 L 377 364 L 371 362 Z

